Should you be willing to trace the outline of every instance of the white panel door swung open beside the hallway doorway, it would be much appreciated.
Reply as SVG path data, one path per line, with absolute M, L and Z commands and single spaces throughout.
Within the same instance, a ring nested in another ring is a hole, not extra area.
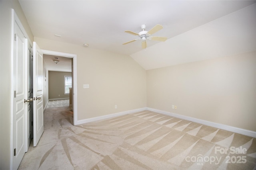
M 37 145 L 44 132 L 43 53 L 33 42 L 33 141 Z

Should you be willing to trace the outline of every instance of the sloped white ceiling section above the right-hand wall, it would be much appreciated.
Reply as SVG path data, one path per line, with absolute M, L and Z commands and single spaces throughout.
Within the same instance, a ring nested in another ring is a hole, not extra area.
M 256 51 L 256 4 L 158 43 L 131 57 L 146 69 Z

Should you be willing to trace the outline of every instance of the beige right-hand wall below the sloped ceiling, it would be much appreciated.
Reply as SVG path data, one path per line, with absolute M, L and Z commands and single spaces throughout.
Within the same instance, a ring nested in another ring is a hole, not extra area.
M 256 52 L 147 70 L 147 107 L 256 131 Z

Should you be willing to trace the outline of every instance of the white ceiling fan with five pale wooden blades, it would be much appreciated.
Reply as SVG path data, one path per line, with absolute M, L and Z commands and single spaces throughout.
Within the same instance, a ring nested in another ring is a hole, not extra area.
M 140 31 L 139 33 L 135 33 L 135 32 L 130 31 L 130 30 L 124 31 L 124 32 L 130 33 L 130 34 L 132 34 L 132 35 L 136 35 L 136 36 L 138 36 L 138 37 L 140 37 L 140 38 L 134 39 L 134 40 L 132 40 L 132 41 L 128 41 L 128 42 L 126 42 L 126 43 L 123 43 L 123 45 L 128 44 L 128 43 L 132 43 L 132 42 L 134 42 L 134 41 L 137 41 L 137 40 L 141 39 L 141 41 L 142 41 L 142 44 L 141 44 L 141 45 L 142 45 L 142 49 L 146 49 L 146 47 L 147 47 L 146 39 L 149 39 L 149 40 L 156 40 L 156 41 L 166 41 L 166 39 L 167 39 L 167 37 L 152 37 L 152 36 L 150 36 L 150 35 L 152 35 L 153 33 L 159 31 L 160 29 L 162 29 L 162 28 L 163 28 L 162 25 L 157 24 L 156 26 L 154 26 L 154 27 L 153 27 L 152 29 L 150 29 L 149 31 L 145 31 L 146 25 L 141 25 L 140 28 L 141 28 L 142 31 Z

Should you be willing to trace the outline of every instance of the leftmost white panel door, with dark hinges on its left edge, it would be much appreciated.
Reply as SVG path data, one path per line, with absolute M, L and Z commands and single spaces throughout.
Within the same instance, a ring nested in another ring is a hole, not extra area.
M 20 27 L 14 22 L 14 59 L 13 59 L 13 169 L 18 166 L 25 154 L 25 119 L 27 104 L 24 99 L 27 97 L 26 92 L 26 38 Z

